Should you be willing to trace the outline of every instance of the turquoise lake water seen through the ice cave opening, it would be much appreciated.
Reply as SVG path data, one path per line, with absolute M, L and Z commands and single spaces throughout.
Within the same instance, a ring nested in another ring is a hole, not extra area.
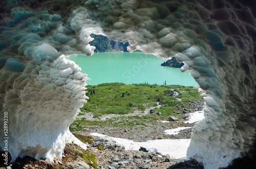
M 66 58 L 78 64 L 81 72 L 88 75 L 91 79 L 87 81 L 88 85 L 111 82 L 163 85 L 166 81 L 167 85 L 197 86 L 188 72 L 161 66 L 162 59 L 142 52 L 106 52 L 94 53 L 91 57 L 72 55 Z

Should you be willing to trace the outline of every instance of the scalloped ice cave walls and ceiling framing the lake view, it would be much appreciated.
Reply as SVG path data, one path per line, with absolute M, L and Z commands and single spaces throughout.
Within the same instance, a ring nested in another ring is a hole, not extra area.
M 8 112 L 12 160 L 61 158 L 72 141 L 86 149 L 69 125 L 86 103 L 87 75 L 65 55 L 93 55 L 92 33 L 185 64 L 207 104 L 187 158 L 204 168 L 255 159 L 255 9 L 253 0 L 1 1 L 0 136 Z

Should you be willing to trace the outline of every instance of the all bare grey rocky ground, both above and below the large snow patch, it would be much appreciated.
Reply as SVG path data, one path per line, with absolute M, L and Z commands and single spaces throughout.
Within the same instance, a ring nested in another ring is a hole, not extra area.
M 77 134 L 89 135 L 90 133 L 99 133 L 108 135 L 111 137 L 131 139 L 134 141 L 146 141 L 152 139 L 182 139 L 190 138 L 191 129 L 182 130 L 177 135 L 165 135 L 164 131 L 174 129 L 177 127 L 193 127 L 194 124 L 183 123 L 186 120 L 188 113 L 200 111 L 203 109 L 203 100 L 197 102 L 191 102 L 193 109 L 184 110 L 182 113 L 182 119 L 174 122 L 163 123 L 158 121 L 157 123 L 151 124 L 146 123 L 143 128 L 117 128 L 114 126 L 85 126 L 86 131 L 77 132 Z M 134 114 L 132 114 L 134 115 Z M 90 116 L 90 115 L 89 115 Z M 102 117 L 112 118 L 113 116 Z M 87 118 L 93 118 L 92 116 Z M 98 120 L 104 120 L 104 119 Z M 95 120 L 95 119 L 94 119 Z M 167 120 L 167 119 L 166 119 Z M 124 147 L 115 143 L 114 140 L 105 140 L 99 137 L 93 136 L 95 142 L 90 144 L 88 152 L 96 154 L 95 162 L 86 161 L 84 162 L 84 150 L 78 148 L 72 144 L 68 144 L 62 155 L 62 159 L 55 159 L 54 163 L 47 162 L 45 160 L 35 160 L 31 157 L 25 157 L 23 159 L 18 158 L 12 167 L 8 168 L 79 168 L 89 169 L 96 168 L 100 169 L 114 169 L 114 168 L 203 168 L 196 161 L 184 161 L 184 159 L 174 160 L 168 155 L 160 156 L 153 152 L 135 151 L 135 150 L 124 150 Z M 101 147 L 101 148 L 100 148 Z M 80 155 L 80 156 L 79 156 Z M 1 167 L 0 167 L 1 168 Z M 6 168 L 6 167 L 2 167 Z

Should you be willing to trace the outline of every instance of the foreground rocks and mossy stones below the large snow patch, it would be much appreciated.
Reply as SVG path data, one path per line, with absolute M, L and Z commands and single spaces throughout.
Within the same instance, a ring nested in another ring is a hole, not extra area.
M 67 144 L 65 151 L 62 155 L 62 159 L 55 158 L 54 162 L 48 162 L 45 160 L 36 160 L 29 156 L 25 158 L 18 158 L 11 166 L 0 168 L 15 168 L 15 169 L 57 169 L 57 168 L 77 168 L 77 169 L 116 169 L 116 168 L 198 168 L 203 167 L 196 161 L 185 161 L 184 159 L 173 160 L 166 156 L 159 156 L 156 153 L 147 153 L 143 151 L 135 150 L 123 150 L 112 141 L 104 140 L 105 142 L 111 142 L 112 146 L 105 147 L 104 150 L 99 150 L 96 147 L 90 146 L 88 150 L 90 153 L 96 155 L 97 166 L 94 167 L 92 161 L 84 162 L 82 159 L 82 150 L 72 144 Z M 70 150 L 72 149 L 72 151 Z M 75 151 L 74 151 L 75 150 Z M 75 153 L 77 152 L 77 153 Z M 80 156 L 79 156 L 80 155 Z

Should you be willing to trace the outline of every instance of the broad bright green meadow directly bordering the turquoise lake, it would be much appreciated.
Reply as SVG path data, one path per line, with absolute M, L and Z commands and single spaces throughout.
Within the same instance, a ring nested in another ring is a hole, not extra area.
M 202 99 L 198 89 L 179 85 L 148 85 L 122 83 L 104 83 L 97 86 L 88 86 L 89 101 L 83 106 L 81 112 L 93 112 L 94 117 L 102 114 L 128 114 L 135 110 L 162 106 L 157 111 L 169 115 L 176 105 L 184 106 L 190 101 Z M 173 91 L 172 91 L 173 90 Z M 172 93 L 179 92 L 178 96 Z M 181 101 L 178 101 L 181 98 Z

